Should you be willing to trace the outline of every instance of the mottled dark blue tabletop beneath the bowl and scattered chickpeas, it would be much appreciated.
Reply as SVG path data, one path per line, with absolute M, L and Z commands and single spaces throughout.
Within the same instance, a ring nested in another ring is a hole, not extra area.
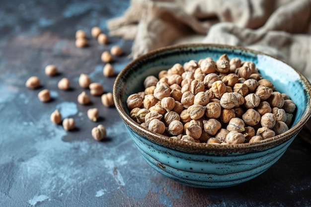
M 106 46 L 90 39 L 85 49 L 75 47 L 75 32 L 99 26 L 120 16 L 127 0 L 10 0 L 0 1 L 0 207 L 310 207 L 311 145 L 304 129 L 284 156 L 265 173 L 238 186 L 196 189 L 171 181 L 142 158 L 115 108 L 91 96 L 82 106 L 77 96 L 80 73 L 112 92 L 115 77 L 104 77 L 100 54 L 113 45 L 125 55 L 113 63 L 119 72 L 131 60 L 130 41 L 110 37 Z M 44 67 L 58 66 L 60 74 L 46 76 Z M 25 87 L 28 77 L 40 77 L 40 89 Z M 60 91 L 62 77 L 72 90 Z M 51 91 L 53 101 L 37 94 Z M 86 117 L 88 108 L 100 109 L 98 123 Z M 66 132 L 50 121 L 59 109 L 76 120 Z M 107 139 L 95 141 L 93 127 L 103 124 Z

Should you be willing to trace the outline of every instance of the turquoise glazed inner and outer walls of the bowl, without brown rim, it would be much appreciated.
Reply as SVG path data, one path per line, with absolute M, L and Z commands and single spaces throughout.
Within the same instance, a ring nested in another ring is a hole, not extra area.
M 126 80 L 123 79 L 126 81 L 123 104 L 126 105 L 129 95 L 143 90 L 143 81 L 148 75 L 157 75 L 160 70 L 169 69 L 175 63 L 183 65 L 189 60 L 199 61 L 206 57 L 217 60 L 224 53 L 229 58 L 238 57 L 241 61 L 253 61 L 264 78 L 271 80 L 278 91 L 291 97 L 297 105 L 293 126 L 305 115 L 307 105 L 310 105 L 310 95 L 306 93 L 307 86 L 294 69 L 266 55 L 213 46 L 172 49 L 132 65 L 135 70 L 127 74 Z M 129 114 L 126 107 L 125 111 Z M 280 144 L 260 150 L 229 154 L 194 154 L 164 147 L 137 134 L 127 124 L 126 128 L 143 157 L 156 171 L 179 183 L 199 188 L 232 186 L 260 175 L 284 154 L 298 134 L 297 132 Z

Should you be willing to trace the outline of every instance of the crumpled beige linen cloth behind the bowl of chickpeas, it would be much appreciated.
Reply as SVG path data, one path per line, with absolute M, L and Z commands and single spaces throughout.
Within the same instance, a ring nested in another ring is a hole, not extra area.
M 238 45 L 276 56 L 311 80 L 311 0 L 132 0 L 107 23 L 132 57 L 179 43 Z

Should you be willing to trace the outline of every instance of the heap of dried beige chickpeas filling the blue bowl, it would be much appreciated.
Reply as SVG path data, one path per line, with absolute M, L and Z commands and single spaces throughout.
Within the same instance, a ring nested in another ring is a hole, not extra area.
M 288 131 L 295 103 L 263 78 L 255 64 L 224 54 L 191 60 L 144 80 L 127 99 L 142 127 L 171 138 L 209 144 L 256 142 Z

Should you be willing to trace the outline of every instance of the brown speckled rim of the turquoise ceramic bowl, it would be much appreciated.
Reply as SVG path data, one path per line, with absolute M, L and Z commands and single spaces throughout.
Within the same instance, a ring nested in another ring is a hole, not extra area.
M 250 152 L 250 151 L 255 151 L 255 150 L 264 150 L 276 145 L 279 145 L 288 139 L 292 138 L 296 133 L 299 133 L 302 127 L 307 123 L 311 116 L 311 105 L 310 105 L 310 97 L 311 97 L 311 84 L 309 80 L 297 69 L 291 67 L 284 61 L 281 61 L 288 66 L 290 66 L 293 70 L 295 70 L 305 88 L 305 93 L 306 95 L 309 95 L 308 103 L 307 103 L 307 108 L 300 120 L 298 120 L 297 124 L 295 124 L 290 130 L 287 132 L 275 136 L 273 138 L 268 138 L 261 140 L 259 142 L 254 142 L 254 143 L 241 143 L 241 144 L 228 144 L 228 145 L 220 145 L 220 144 L 202 144 L 202 143 L 195 143 L 195 142 L 185 142 L 181 141 L 178 139 L 174 138 L 169 138 L 160 134 L 156 134 L 154 132 L 151 132 L 143 127 L 141 127 L 138 123 L 136 123 L 125 111 L 126 106 L 123 105 L 123 100 L 121 100 L 121 94 L 123 87 L 121 87 L 123 78 L 122 76 L 126 74 L 128 70 L 130 70 L 132 67 L 135 67 L 137 63 L 145 60 L 145 59 L 151 59 L 155 57 L 157 54 L 160 53 L 165 53 L 171 50 L 176 50 L 176 49 L 187 49 L 189 47 L 192 48 L 197 48 L 197 47 L 213 47 L 213 48 L 219 48 L 219 49 L 229 49 L 229 50 L 240 50 L 240 51 L 245 51 L 248 53 L 253 53 L 256 55 L 265 55 L 274 59 L 279 60 L 278 58 L 275 58 L 273 56 L 267 55 L 262 52 L 254 51 L 251 49 L 246 49 L 242 47 L 237 47 L 237 46 L 229 46 L 229 45 L 218 45 L 218 44 L 184 44 L 184 45 L 174 45 L 174 46 L 168 46 L 168 47 L 163 47 L 159 48 L 156 50 L 153 50 L 145 55 L 140 56 L 139 58 L 133 60 L 131 63 L 129 63 L 121 72 L 118 74 L 116 77 L 115 83 L 113 85 L 113 100 L 115 103 L 115 107 L 120 115 L 120 117 L 123 119 L 126 125 L 130 126 L 133 131 L 141 135 L 142 137 L 155 142 L 159 145 L 162 145 L 164 147 L 168 147 L 171 149 L 187 152 L 187 153 L 195 153 L 195 154 L 206 154 L 206 153 L 216 153 L 219 155 L 222 154 L 229 154 L 229 153 L 241 153 L 241 152 Z

